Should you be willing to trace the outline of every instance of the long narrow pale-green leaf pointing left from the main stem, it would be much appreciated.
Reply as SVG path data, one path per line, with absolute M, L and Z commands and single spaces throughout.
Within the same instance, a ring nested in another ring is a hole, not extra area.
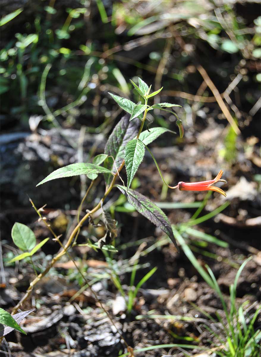
M 77 175 L 89 175 L 89 174 L 112 174 L 110 170 L 105 167 L 89 164 L 85 162 L 78 162 L 77 164 L 71 164 L 65 167 L 61 167 L 58 170 L 53 171 L 50 175 L 48 175 L 44 180 L 38 183 L 38 185 L 42 185 L 47 181 L 54 180 L 55 178 L 62 177 L 71 177 Z

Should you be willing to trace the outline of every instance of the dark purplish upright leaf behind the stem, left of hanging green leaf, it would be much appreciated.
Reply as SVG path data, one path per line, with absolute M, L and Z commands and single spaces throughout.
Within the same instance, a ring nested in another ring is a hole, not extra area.
M 133 119 L 130 122 L 129 117 L 125 115 L 114 127 L 112 134 L 109 136 L 109 139 L 105 145 L 104 153 L 114 158 L 117 169 L 124 159 L 124 149 L 127 143 L 134 139 L 135 136 L 137 136 L 139 126 L 140 121 L 138 119 Z M 115 165 L 111 157 L 108 157 L 104 162 L 104 166 L 111 170 L 113 173 L 117 172 Z M 106 179 L 106 184 L 109 185 L 112 178 L 108 175 L 104 176 Z

